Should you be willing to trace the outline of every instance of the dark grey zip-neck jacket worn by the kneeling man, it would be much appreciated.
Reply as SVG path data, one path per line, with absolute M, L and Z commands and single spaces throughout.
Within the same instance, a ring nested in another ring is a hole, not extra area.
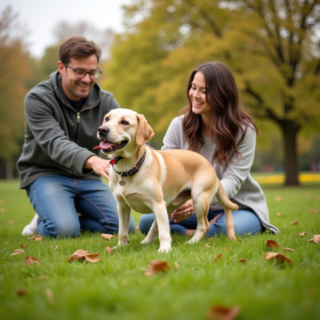
M 96 83 L 78 112 L 59 90 L 59 71 L 50 79 L 32 88 L 24 100 L 25 136 L 17 167 L 20 188 L 45 174 L 72 178 L 100 179 L 85 161 L 98 155 L 92 150 L 103 116 L 110 109 L 120 108 L 110 92 Z

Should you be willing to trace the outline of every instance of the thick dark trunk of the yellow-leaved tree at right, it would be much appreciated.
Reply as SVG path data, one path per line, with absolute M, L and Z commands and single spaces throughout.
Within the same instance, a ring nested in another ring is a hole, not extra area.
M 297 132 L 300 126 L 290 120 L 281 124 L 284 136 L 284 171 L 285 186 L 298 186 Z

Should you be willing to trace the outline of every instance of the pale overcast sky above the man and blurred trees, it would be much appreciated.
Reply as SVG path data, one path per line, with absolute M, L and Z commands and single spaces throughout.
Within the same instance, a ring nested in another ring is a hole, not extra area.
M 123 30 L 123 4 L 132 0 L 0 0 L 0 12 L 8 4 L 18 13 L 18 21 L 29 31 L 30 53 L 40 58 L 54 43 L 53 28 L 60 21 L 76 24 L 88 21 L 98 30 Z

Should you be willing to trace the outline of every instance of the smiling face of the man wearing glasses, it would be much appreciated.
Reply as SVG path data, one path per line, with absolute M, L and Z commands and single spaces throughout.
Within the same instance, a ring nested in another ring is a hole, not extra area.
M 68 65 L 74 69 L 92 71 L 97 69 L 98 59 L 95 54 L 78 59 L 71 58 Z M 58 69 L 62 77 L 63 92 L 71 101 L 79 101 L 81 98 L 85 98 L 96 82 L 96 79 L 90 79 L 88 73 L 83 78 L 77 78 L 75 71 L 66 67 L 62 61 L 58 61 Z

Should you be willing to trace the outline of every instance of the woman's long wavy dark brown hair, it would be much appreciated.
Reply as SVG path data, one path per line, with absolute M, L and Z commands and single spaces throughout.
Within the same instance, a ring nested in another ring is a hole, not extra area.
M 241 125 L 251 125 L 259 133 L 251 117 L 239 106 L 238 90 L 230 69 L 222 62 L 204 63 L 192 71 L 187 87 L 188 105 L 180 110 L 184 114 L 182 125 L 189 144 L 188 149 L 199 151 L 204 144 L 201 115 L 192 112 L 192 102 L 189 97 L 191 82 L 196 72 L 201 71 L 206 85 L 206 100 L 214 110 L 211 121 L 211 138 L 217 144 L 212 162 L 229 162 L 228 152 L 233 148 L 237 156 L 241 156 L 236 146 L 236 136 L 241 131 L 240 141 L 244 138 L 246 129 Z

